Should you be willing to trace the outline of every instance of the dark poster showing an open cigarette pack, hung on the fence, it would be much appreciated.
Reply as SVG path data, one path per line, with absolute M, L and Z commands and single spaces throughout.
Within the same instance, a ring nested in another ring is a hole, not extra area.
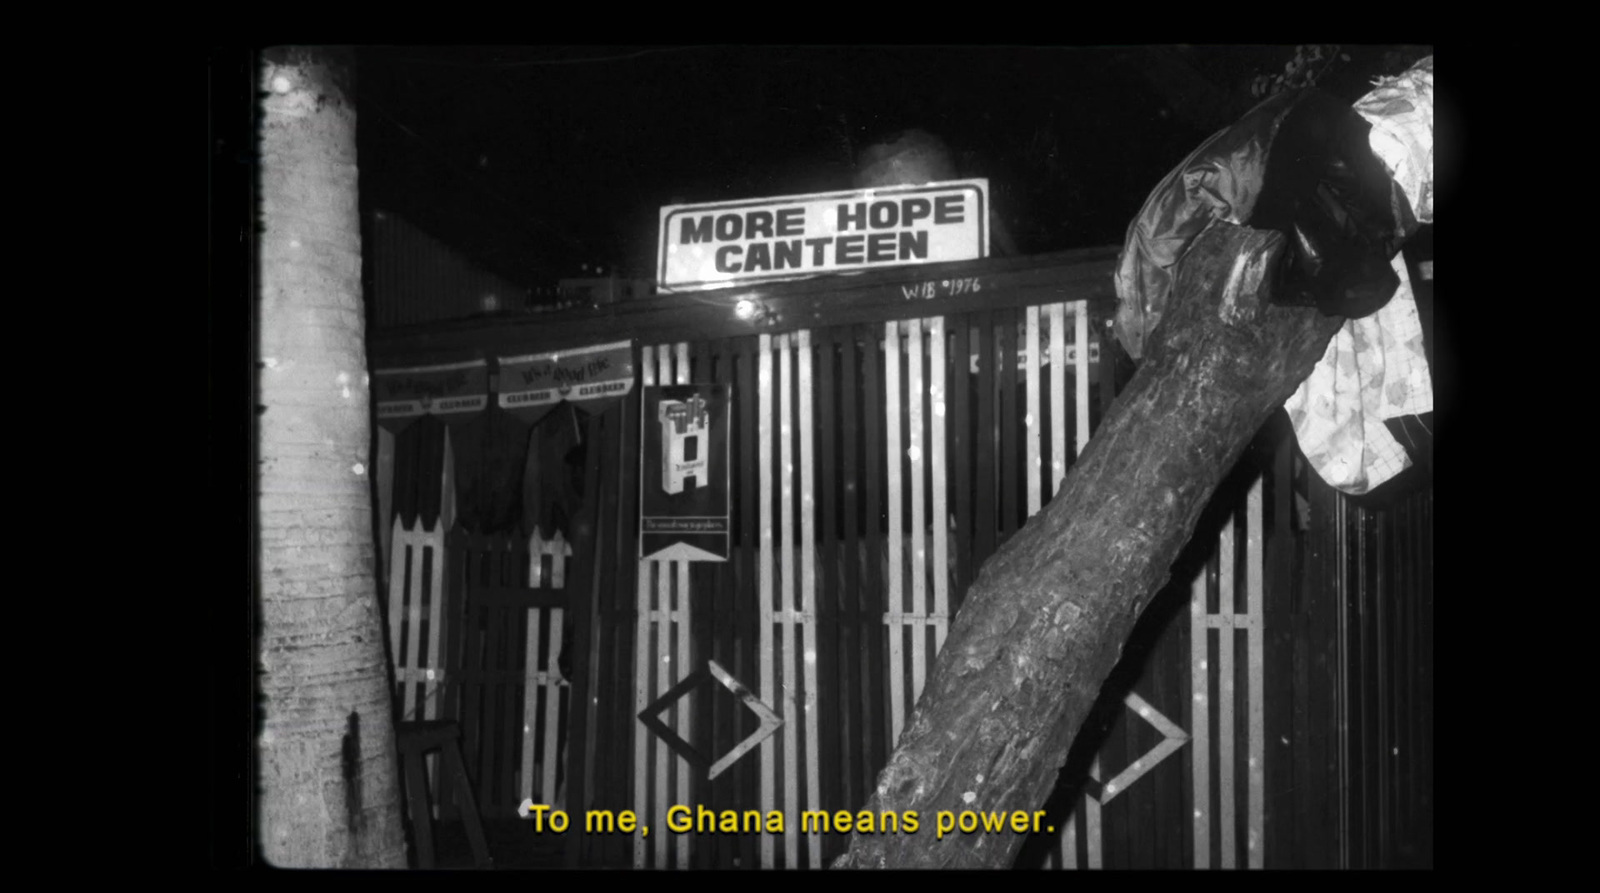
M 638 554 L 728 560 L 726 384 L 646 387 L 640 424 Z

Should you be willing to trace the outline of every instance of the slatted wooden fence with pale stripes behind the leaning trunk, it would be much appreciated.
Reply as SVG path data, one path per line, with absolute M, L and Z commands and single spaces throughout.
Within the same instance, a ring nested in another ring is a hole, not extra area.
M 440 531 L 395 527 L 405 703 L 430 703 L 414 655 L 442 645 L 406 643 L 435 635 L 432 581 L 461 579 L 482 611 L 442 658 L 466 661 L 445 715 L 475 730 L 480 808 L 558 803 L 560 763 L 584 791 L 568 803 L 570 864 L 832 861 L 845 837 L 802 827 L 803 813 L 867 800 L 976 568 L 1054 495 L 1130 373 L 1104 304 L 1010 301 L 637 347 L 643 386 L 731 387 L 728 562 L 638 560 L 637 389 L 589 422 L 581 578 L 534 570 L 526 543 L 469 538 L 440 570 Z M 1354 504 L 1269 427 L 1147 608 L 1069 757 L 1053 831 L 1019 864 L 1430 859 L 1430 488 Z M 499 571 L 466 583 L 501 552 Z M 530 595 L 541 583 L 565 599 Z M 554 672 L 566 605 L 592 611 L 576 749 Z M 630 810 L 651 834 L 582 834 L 579 803 Z M 674 832 L 677 805 L 691 824 L 698 808 L 718 826 L 733 813 L 738 829 Z M 749 829 L 750 811 L 763 826 L 781 813 L 782 832 Z

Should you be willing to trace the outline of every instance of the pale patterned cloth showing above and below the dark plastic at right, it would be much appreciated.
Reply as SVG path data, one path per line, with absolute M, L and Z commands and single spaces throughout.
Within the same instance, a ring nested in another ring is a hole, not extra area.
M 1434 221 L 1434 58 L 1379 78 L 1355 110 L 1373 125 L 1368 142 L 1405 192 L 1418 222 Z M 1384 419 L 1434 410 L 1422 322 L 1405 258 L 1400 288 L 1376 314 L 1349 320 L 1283 408 L 1317 474 L 1346 493 L 1366 493 L 1411 459 Z

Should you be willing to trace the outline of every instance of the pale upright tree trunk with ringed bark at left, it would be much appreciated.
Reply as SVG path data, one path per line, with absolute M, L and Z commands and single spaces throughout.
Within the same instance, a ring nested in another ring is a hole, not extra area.
M 342 74 L 306 50 L 261 70 L 259 827 L 277 866 L 405 867 Z

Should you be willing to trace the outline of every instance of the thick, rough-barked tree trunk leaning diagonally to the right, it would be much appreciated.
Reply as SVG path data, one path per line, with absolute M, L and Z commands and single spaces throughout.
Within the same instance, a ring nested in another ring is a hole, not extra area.
M 1013 864 L 1022 834 L 936 839 L 936 815 L 1040 808 L 1211 493 L 1344 322 L 1264 304 L 1282 248 L 1226 222 L 1197 237 L 1142 366 L 979 571 L 864 807 L 917 811 L 918 832 L 856 832 L 834 867 Z

